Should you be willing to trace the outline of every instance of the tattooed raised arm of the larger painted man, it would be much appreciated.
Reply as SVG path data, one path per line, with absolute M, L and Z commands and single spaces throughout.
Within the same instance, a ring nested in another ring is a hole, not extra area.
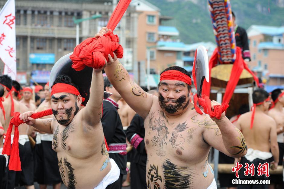
M 104 27 L 95 35 L 95 37 L 100 37 L 105 33 L 107 33 L 107 28 Z M 111 58 L 109 55 L 108 58 L 108 66 L 105 68 L 108 80 L 125 102 L 141 117 L 145 118 L 150 112 L 154 95 L 146 93 L 140 86 L 131 80 L 126 69 L 119 60 L 117 60 L 116 55 L 114 58 Z

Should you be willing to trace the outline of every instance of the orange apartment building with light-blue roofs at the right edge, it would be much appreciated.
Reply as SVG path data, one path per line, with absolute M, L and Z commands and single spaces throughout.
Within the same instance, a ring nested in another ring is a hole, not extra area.
M 284 86 L 284 27 L 252 25 L 247 29 L 251 69 L 270 92 Z

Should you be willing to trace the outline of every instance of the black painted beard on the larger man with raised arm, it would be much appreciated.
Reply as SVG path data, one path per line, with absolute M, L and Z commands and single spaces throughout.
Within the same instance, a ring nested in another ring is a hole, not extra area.
M 184 110 L 189 105 L 189 93 L 187 94 L 188 100 L 186 101 L 186 96 L 182 95 L 176 100 L 165 100 L 163 95 L 159 93 L 159 103 L 162 109 L 165 109 L 166 112 L 169 114 L 174 114 L 178 112 L 180 109 Z M 173 102 L 176 103 L 176 105 L 166 105 L 167 102 Z

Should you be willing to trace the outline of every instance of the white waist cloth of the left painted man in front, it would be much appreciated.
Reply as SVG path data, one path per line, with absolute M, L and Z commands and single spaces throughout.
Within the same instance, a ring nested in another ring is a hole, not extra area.
M 111 170 L 94 189 L 105 189 L 108 185 L 114 183 L 119 178 L 120 170 L 117 164 L 113 159 L 110 159 L 110 161 L 111 161 Z

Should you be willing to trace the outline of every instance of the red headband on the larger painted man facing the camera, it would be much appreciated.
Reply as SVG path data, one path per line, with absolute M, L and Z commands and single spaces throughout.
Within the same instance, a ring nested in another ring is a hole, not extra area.
M 161 75 L 160 75 L 160 81 L 162 80 L 177 80 L 177 81 L 182 81 L 186 84 L 188 84 L 189 86 L 191 86 L 191 78 L 178 71 L 178 70 L 168 70 L 168 71 L 165 71 L 163 72 Z

